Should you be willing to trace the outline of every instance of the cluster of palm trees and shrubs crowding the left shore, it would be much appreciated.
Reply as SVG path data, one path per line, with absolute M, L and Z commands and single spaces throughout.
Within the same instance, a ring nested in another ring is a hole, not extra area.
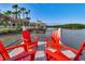
M 22 26 L 29 23 L 30 10 L 13 4 L 12 10 L 0 12 L 0 34 L 20 33 Z

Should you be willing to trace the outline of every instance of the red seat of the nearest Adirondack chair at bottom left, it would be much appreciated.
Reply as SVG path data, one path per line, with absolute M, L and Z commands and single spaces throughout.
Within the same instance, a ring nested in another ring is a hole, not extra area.
M 36 50 L 30 49 L 28 52 L 27 51 L 23 51 L 19 54 L 8 59 L 9 61 L 30 61 L 31 59 L 33 59 L 33 54 L 36 53 Z

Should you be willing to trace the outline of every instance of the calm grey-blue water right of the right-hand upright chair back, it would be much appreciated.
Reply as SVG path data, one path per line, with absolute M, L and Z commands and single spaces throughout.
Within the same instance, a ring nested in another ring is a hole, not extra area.
M 85 29 L 61 29 L 61 41 L 75 49 L 80 48 L 80 44 L 85 41 Z

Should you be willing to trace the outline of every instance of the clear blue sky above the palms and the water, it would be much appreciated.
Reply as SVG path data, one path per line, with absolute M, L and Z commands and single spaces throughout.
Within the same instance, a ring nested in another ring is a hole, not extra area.
M 0 11 L 13 10 L 12 5 L 12 3 L 0 3 Z M 47 25 L 85 24 L 84 3 L 18 3 L 18 7 L 31 10 L 28 15 L 31 17 L 30 22 L 40 20 Z

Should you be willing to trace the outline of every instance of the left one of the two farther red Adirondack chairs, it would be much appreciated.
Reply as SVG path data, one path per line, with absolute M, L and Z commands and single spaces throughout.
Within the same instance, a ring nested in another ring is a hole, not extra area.
M 34 47 L 38 48 L 39 38 L 38 37 L 31 37 L 29 30 L 27 30 L 27 29 L 23 30 L 22 36 L 23 36 L 23 41 L 25 43 L 27 43 L 28 46 L 31 46 L 30 48 L 34 48 Z M 34 39 L 36 41 L 31 41 L 31 39 Z

